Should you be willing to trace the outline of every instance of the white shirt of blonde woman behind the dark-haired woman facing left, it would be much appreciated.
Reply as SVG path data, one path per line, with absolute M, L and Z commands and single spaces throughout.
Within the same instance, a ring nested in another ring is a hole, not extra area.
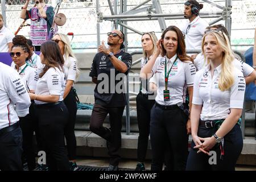
M 66 59 L 65 54 L 63 55 L 64 58 L 64 72 L 65 72 L 65 81 L 72 80 L 76 81 L 76 72 L 77 72 L 77 61 L 74 57 L 68 56 L 68 59 Z

